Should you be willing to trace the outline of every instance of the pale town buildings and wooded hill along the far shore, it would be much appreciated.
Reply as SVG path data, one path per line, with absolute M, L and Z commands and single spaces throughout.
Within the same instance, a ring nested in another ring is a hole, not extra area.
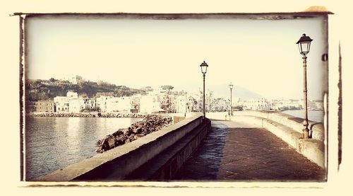
M 140 89 L 103 81 L 85 81 L 73 75 L 63 79 L 27 80 L 26 113 L 191 113 L 203 110 L 203 93 L 173 91 L 173 86 Z M 233 95 L 234 96 L 234 95 Z M 230 97 L 230 95 L 229 95 Z M 322 100 L 308 100 L 309 110 L 323 110 Z M 231 109 L 230 98 L 205 92 L 207 112 Z M 301 110 L 303 100 L 232 99 L 232 110 Z

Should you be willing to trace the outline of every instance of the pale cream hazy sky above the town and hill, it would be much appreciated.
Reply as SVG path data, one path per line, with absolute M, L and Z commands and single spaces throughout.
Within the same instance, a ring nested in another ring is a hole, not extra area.
M 296 42 L 306 33 L 313 39 L 308 96 L 322 99 L 322 18 L 30 18 L 26 26 L 29 79 L 78 74 L 131 88 L 169 84 L 198 91 L 205 61 L 206 88 L 216 96 L 229 93 L 232 82 L 266 98 L 298 99 L 303 67 Z

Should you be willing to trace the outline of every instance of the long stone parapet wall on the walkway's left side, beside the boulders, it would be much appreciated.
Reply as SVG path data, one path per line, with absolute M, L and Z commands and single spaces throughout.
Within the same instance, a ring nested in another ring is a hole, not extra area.
M 128 144 L 42 175 L 34 181 L 124 180 L 127 175 L 158 156 L 203 122 L 202 115 L 194 115 Z

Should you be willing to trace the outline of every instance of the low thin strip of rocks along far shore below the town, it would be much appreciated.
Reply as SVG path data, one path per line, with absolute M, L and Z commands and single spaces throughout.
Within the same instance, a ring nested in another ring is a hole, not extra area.
M 33 117 L 131 117 L 143 118 L 147 115 L 136 113 L 32 113 Z

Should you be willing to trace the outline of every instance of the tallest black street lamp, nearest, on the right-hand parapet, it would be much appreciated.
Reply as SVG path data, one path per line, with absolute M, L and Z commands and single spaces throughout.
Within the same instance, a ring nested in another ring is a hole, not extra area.
M 310 51 L 310 43 L 311 43 L 311 38 L 309 36 L 306 36 L 303 34 L 299 41 L 297 42 L 297 45 L 299 47 L 299 52 L 300 54 L 303 55 L 303 68 L 304 68 L 304 129 L 303 129 L 303 138 L 304 139 L 309 139 L 309 129 L 308 129 L 308 98 L 307 98 L 307 88 L 306 88 L 306 54 L 309 53 Z

